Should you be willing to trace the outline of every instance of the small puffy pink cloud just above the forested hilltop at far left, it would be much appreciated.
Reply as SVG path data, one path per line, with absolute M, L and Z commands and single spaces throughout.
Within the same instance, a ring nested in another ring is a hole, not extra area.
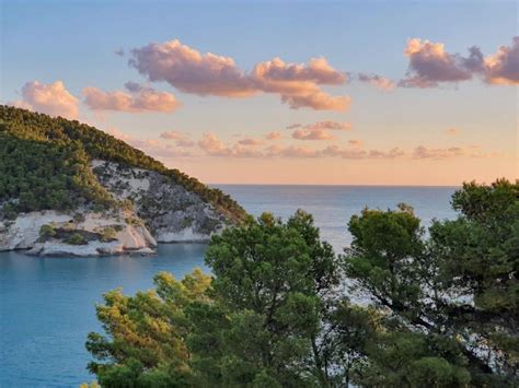
M 22 87 L 22 98 L 10 104 L 70 119 L 77 119 L 79 115 L 78 98 L 70 94 L 61 81 L 48 84 L 39 81 L 26 82 Z

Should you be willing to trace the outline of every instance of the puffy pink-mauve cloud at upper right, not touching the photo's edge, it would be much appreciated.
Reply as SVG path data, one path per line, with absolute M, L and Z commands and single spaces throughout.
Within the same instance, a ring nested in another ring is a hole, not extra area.
M 406 87 L 432 87 L 439 82 L 460 82 L 472 79 L 471 66 L 460 55 L 445 50 L 442 43 L 419 38 L 407 40 L 404 55 L 410 58 L 407 78 L 400 82 Z

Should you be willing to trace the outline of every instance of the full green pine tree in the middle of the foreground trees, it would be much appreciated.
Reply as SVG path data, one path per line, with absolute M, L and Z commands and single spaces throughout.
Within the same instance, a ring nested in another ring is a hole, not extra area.
M 319 337 L 339 266 L 312 217 L 299 211 L 282 223 L 266 213 L 226 230 L 206 262 L 216 304 L 189 310 L 201 384 L 326 385 Z

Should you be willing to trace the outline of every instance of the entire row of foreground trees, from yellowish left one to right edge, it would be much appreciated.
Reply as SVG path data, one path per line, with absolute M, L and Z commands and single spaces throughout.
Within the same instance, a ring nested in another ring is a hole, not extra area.
M 89 368 L 103 387 L 516 387 L 519 184 L 466 184 L 452 204 L 428 234 L 410 207 L 366 209 L 339 256 L 302 211 L 228 228 L 212 278 L 105 294 Z

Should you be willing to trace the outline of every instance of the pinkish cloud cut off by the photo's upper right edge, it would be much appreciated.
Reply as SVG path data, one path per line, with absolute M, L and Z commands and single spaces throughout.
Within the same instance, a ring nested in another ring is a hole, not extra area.
M 484 60 L 485 81 L 496 85 L 519 85 L 519 36 L 511 46 L 500 46 Z

